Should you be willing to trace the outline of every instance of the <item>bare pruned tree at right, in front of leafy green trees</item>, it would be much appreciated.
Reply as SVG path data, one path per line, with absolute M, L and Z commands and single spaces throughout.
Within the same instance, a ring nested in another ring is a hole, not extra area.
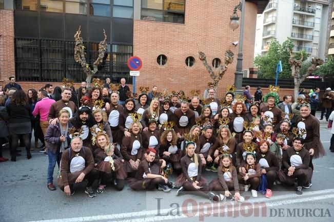
M 294 98 L 296 99 L 298 97 L 299 93 L 299 87 L 301 83 L 304 82 L 305 78 L 312 74 L 312 71 L 317 69 L 317 66 L 320 66 L 324 63 L 324 60 L 322 60 L 319 57 L 312 58 L 311 66 L 308 67 L 305 74 L 300 74 L 300 68 L 303 65 L 303 54 L 301 54 L 301 58 L 297 59 L 292 57 L 292 54 L 290 52 L 290 57 L 288 61 L 289 65 L 291 66 L 291 75 L 293 77 L 294 82 Z

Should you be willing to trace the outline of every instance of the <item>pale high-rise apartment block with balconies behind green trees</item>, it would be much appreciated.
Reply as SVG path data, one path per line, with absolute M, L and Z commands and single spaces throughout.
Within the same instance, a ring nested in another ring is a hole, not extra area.
M 257 27 L 256 55 L 260 51 L 266 54 L 271 38 L 275 37 L 282 44 L 290 37 L 293 52 L 304 50 L 309 59 L 316 56 L 324 59 L 328 5 L 328 0 L 271 0 L 258 17 L 261 22 Z

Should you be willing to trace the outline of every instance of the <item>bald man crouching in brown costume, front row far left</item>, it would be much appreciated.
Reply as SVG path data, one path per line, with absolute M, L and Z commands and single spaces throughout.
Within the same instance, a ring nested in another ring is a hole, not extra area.
M 57 185 L 67 196 L 74 194 L 73 185 L 87 179 L 88 184 L 85 193 L 89 197 L 96 196 L 91 187 L 99 172 L 94 169 L 94 159 L 89 148 L 83 147 L 80 137 L 74 137 L 71 141 L 71 148 L 65 150 L 61 159 L 61 173 Z

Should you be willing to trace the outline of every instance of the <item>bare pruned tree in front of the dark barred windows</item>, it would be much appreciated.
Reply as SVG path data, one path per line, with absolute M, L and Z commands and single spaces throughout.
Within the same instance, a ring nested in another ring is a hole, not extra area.
M 104 39 L 99 43 L 99 57 L 97 57 L 97 59 L 93 64 L 93 70 L 91 70 L 89 64 L 86 62 L 86 52 L 85 52 L 86 47 L 84 46 L 83 38 L 80 37 L 81 26 L 79 26 L 78 30 L 74 35 L 74 40 L 75 40 L 74 60 L 75 62 L 80 63 L 82 69 L 84 70 L 86 74 L 86 83 L 88 87 L 90 86 L 92 76 L 98 71 L 98 66 L 100 63 L 102 63 L 104 55 L 107 51 L 107 43 L 106 43 L 107 35 L 104 29 L 103 33 L 104 33 Z

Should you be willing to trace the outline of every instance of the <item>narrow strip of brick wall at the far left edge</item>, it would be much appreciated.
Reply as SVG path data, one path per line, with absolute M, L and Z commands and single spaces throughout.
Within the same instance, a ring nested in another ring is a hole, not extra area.
M 14 15 L 12 10 L 0 9 L 0 81 L 15 76 Z M 0 82 L 0 85 L 3 85 Z

